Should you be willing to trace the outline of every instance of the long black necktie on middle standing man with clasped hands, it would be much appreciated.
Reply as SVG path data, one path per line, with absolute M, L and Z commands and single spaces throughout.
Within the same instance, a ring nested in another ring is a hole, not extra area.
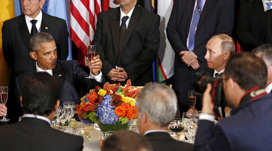
M 128 20 L 128 16 L 124 16 L 122 18 L 122 24 L 120 26 L 120 31 L 119 31 L 119 40 L 118 40 L 118 52 L 117 52 L 117 57 L 116 57 L 116 66 L 121 67 L 121 55 L 122 55 L 122 50 L 124 47 L 124 41 L 125 41 L 125 35 L 127 31 L 127 26 L 126 26 L 126 21 Z

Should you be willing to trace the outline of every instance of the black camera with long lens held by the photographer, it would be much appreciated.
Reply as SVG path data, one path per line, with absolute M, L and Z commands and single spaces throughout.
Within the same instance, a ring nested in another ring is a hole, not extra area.
M 221 76 L 220 76 L 221 77 Z M 225 102 L 222 78 L 213 78 L 205 72 L 196 72 L 194 78 L 194 87 L 196 92 L 204 92 L 207 88 L 207 84 L 212 84 L 212 102 L 214 103 L 214 113 L 218 117 L 225 117 L 224 108 L 227 106 Z

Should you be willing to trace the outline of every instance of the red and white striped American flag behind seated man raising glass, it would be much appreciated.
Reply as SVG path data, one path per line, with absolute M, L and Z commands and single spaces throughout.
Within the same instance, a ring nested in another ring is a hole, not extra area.
M 101 12 L 101 0 L 72 0 L 70 36 L 78 47 L 78 62 L 87 66 L 87 48 L 96 30 L 97 14 Z

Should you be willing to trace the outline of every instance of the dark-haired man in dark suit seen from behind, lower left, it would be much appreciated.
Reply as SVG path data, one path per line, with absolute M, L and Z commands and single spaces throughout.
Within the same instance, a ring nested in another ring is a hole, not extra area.
M 24 118 L 1 127 L 1 150 L 82 150 L 83 138 L 50 127 L 61 85 L 45 72 L 28 75 L 22 88 Z

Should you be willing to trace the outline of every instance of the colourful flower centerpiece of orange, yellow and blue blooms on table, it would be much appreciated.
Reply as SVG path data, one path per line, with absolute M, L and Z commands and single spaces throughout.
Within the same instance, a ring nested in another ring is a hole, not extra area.
M 96 86 L 83 96 L 75 113 L 85 124 L 96 122 L 101 131 L 128 129 L 137 118 L 135 99 L 139 90 L 130 79 L 125 87 L 107 82 L 103 88 Z

